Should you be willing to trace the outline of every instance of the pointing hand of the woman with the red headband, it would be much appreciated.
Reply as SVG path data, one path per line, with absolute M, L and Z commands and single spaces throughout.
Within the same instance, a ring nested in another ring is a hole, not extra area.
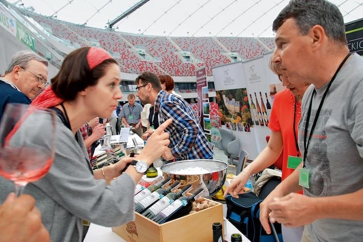
M 150 136 L 146 142 L 141 154 L 138 156 L 138 160 L 145 161 L 150 165 L 163 155 L 170 144 L 169 134 L 164 132 L 164 129 L 168 127 L 171 122 L 172 119 L 168 119 L 155 129 L 152 136 Z

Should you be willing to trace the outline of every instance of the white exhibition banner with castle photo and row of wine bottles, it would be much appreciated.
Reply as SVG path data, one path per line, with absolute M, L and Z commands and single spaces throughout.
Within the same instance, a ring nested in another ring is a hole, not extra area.
M 269 70 L 271 55 L 212 69 L 221 125 L 233 130 L 249 160 L 254 160 L 266 147 L 273 99 L 284 88 Z M 212 138 L 216 133 L 213 129 Z

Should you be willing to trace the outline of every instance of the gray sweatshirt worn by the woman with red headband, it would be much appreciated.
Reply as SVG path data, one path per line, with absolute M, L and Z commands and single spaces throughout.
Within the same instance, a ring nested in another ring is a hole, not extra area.
M 42 128 L 46 125 L 50 120 L 29 117 L 11 143 L 27 139 L 33 147 L 49 146 Z M 82 219 L 106 227 L 134 219 L 133 179 L 123 173 L 108 186 L 104 180 L 95 180 L 79 131 L 77 136 L 79 142 L 57 117 L 54 163 L 43 179 L 25 188 L 35 198 L 53 242 L 80 242 Z M 0 204 L 13 191 L 12 182 L 0 177 Z

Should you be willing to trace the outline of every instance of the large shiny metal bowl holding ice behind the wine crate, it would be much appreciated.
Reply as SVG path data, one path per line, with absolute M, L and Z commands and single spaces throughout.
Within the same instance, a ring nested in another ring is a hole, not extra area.
M 187 169 L 190 167 L 201 167 L 208 170 L 205 173 L 199 174 L 178 174 L 178 170 Z M 160 169 L 165 178 L 170 178 L 174 181 L 179 181 L 182 185 L 192 184 L 193 193 L 199 188 L 204 188 L 203 197 L 211 197 L 216 194 L 223 186 L 226 178 L 226 169 L 228 165 L 223 161 L 217 160 L 186 160 L 172 162 L 163 165 Z

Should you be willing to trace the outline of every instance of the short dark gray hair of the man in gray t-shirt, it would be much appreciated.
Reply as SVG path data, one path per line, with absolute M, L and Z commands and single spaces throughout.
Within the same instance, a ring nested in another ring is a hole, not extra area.
M 338 7 L 326 0 L 291 0 L 273 23 L 276 32 L 288 18 L 293 18 L 301 35 L 320 25 L 333 41 L 347 44 L 344 18 Z

